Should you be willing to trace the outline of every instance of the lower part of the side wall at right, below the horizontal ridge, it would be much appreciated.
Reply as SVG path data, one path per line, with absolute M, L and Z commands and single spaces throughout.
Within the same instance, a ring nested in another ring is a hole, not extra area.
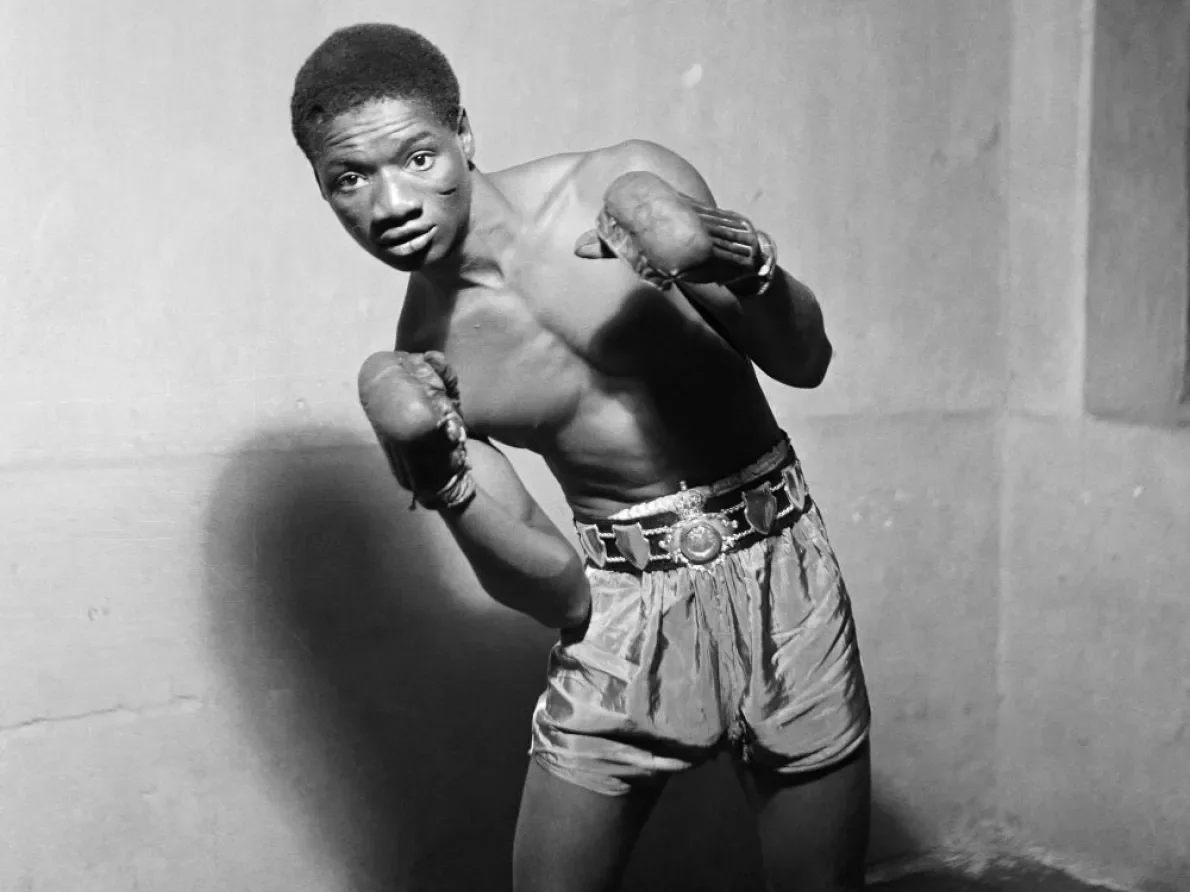
M 1190 436 L 1012 419 L 998 802 L 1029 838 L 1190 882 Z

